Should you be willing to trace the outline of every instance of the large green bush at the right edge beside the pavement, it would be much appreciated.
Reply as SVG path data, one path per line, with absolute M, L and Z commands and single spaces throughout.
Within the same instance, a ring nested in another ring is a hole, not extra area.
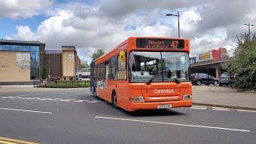
M 243 90 L 256 90 L 256 36 L 238 38 L 238 47 L 234 58 L 230 58 L 224 67 L 234 76 L 234 87 Z

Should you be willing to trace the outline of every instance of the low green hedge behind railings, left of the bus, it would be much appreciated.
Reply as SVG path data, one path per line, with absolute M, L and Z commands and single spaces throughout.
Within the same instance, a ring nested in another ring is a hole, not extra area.
M 54 81 L 47 82 L 46 85 L 41 85 L 38 87 L 46 88 L 77 88 L 77 87 L 89 87 L 90 81 Z

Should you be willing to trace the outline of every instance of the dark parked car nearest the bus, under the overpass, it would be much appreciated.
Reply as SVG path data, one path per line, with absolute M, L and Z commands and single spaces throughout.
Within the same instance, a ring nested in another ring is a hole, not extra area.
M 192 84 L 196 85 L 202 85 L 202 84 L 208 84 L 208 75 L 204 73 L 193 73 L 190 75 L 190 80 Z M 214 78 L 214 76 L 209 75 L 209 83 L 213 84 L 215 86 L 218 85 L 218 79 Z

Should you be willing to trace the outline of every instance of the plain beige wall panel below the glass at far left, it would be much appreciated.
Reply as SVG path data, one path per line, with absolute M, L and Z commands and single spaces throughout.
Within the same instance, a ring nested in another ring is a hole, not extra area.
M 30 52 L 0 51 L 0 82 L 30 81 Z

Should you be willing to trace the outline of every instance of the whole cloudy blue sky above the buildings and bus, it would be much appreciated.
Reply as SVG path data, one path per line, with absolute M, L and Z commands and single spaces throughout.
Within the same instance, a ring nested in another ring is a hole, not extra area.
M 76 46 L 90 62 L 131 36 L 190 39 L 190 56 L 218 47 L 234 50 L 237 36 L 256 24 L 255 0 L 0 0 L 0 38 L 35 40 L 46 50 Z M 250 31 L 254 33 L 256 26 Z

